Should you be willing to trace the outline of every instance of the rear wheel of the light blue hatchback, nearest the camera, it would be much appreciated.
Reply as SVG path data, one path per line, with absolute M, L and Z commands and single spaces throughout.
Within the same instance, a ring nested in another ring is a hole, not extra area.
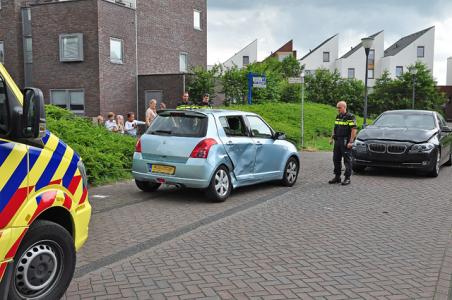
M 224 202 L 232 191 L 231 175 L 225 166 L 219 166 L 213 173 L 206 195 L 215 202 Z

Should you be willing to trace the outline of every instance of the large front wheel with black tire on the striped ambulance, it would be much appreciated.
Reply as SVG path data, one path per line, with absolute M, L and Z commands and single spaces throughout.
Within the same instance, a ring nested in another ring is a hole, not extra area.
M 16 253 L 8 299 L 60 299 L 74 275 L 74 240 L 62 226 L 32 224 Z

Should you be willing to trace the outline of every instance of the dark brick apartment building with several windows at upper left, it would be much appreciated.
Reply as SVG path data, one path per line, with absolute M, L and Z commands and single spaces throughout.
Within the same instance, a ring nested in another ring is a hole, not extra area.
M 47 103 L 87 116 L 172 107 L 207 66 L 206 0 L 0 0 L 0 61 Z

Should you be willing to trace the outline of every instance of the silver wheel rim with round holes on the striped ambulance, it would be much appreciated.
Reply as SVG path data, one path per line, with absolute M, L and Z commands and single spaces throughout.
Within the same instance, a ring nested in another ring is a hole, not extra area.
M 62 273 L 61 257 L 60 246 L 52 241 L 39 241 L 29 247 L 15 269 L 14 287 L 17 294 L 33 299 L 51 290 Z

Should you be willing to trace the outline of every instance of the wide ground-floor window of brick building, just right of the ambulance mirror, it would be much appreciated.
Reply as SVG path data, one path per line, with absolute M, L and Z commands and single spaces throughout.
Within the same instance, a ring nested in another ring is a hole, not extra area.
M 85 91 L 74 90 L 50 90 L 50 103 L 75 113 L 85 112 Z

